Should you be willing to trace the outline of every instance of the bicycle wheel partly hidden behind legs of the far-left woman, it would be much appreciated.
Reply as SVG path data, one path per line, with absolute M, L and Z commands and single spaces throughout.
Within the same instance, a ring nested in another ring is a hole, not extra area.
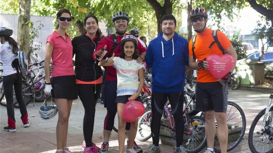
M 22 94 L 23 94 L 23 100 L 26 106 L 29 104 L 32 97 L 32 91 L 30 87 L 29 88 L 28 87 L 29 87 L 28 84 L 24 82 L 22 87 Z M 18 104 L 18 101 L 16 100 L 14 89 L 13 89 L 13 107 L 19 108 L 19 104 Z

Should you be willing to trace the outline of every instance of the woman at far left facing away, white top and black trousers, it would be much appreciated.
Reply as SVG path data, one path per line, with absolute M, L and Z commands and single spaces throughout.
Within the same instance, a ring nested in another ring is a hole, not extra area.
M 7 100 L 8 116 L 8 126 L 4 127 L 4 131 L 16 132 L 13 108 L 13 86 L 24 127 L 29 127 L 29 120 L 27 108 L 22 95 L 22 78 L 20 74 L 17 74 L 16 69 L 12 67 L 12 61 L 17 56 L 17 51 L 19 50 L 17 42 L 10 37 L 12 33 L 13 31 L 9 28 L 0 28 L 0 53 L 3 62 L 3 87 Z

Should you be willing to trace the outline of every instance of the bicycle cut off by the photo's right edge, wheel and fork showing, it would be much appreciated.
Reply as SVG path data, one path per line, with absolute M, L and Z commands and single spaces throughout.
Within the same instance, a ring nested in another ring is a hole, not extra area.
M 253 153 L 273 152 L 273 95 L 269 96 L 269 101 L 261 112 L 253 120 L 249 134 L 248 145 Z

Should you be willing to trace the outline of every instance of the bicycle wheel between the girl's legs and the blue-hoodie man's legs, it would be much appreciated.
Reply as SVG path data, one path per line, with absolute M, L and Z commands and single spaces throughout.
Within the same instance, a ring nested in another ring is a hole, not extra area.
M 151 121 L 152 116 L 150 114 L 152 113 L 151 109 L 148 109 L 144 112 L 144 114 L 138 119 L 138 125 L 137 125 L 137 135 L 136 138 L 139 141 L 146 141 L 149 138 L 152 137 L 151 132 Z M 150 117 L 149 117 L 150 116 Z M 149 117 L 149 118 L 148 118 Z M 147 121 L 146 121 L 147 120 Z M 146 122 L 145 122 L 146 121 Z

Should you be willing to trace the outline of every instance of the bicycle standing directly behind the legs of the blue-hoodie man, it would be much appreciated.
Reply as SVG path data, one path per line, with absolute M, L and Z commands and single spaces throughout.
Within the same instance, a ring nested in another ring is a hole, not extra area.
M 195 153 L 201 151 L 206 145 L 205 135 L 205 120 L 202 117 L 191 117 L 188 115 L 189 104 L 186 105 L 184 112 L 184 137 L 183 146 L 189 153 Z M 152 137 L 150 130 L 152 120 L 152 110 L 148 109 L 138 120 L 137 135 L 136 138 L 139 141 L 146 141 Z M 164 123 L 166 122 L 166 123 Z M 176 138 L 176 129 L 174 125 L 174 119 L 168 105 L 164 105 L 163 109 L 163 121 L 161 121 L 161 127 L 163 130 L 170 130 L 170 134 L 173 138 Z M 164 129 L 165 128 L 165 129 Z

